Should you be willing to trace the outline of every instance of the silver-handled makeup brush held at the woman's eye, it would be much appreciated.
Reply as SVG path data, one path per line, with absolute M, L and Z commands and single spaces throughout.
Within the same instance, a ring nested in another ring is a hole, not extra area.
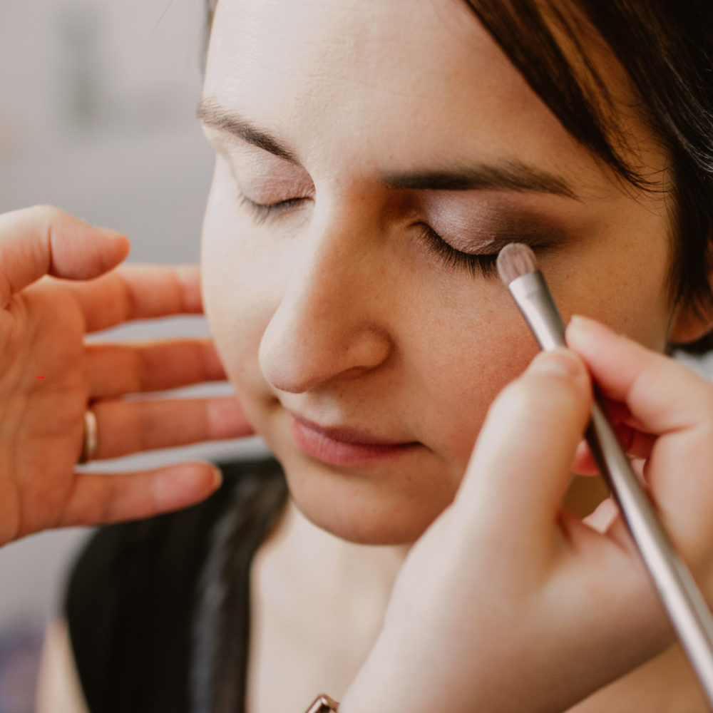
M 530 247 L 503 247 L 498 273 L 540 347 L 564 347 L 565 325 Z M 713 617 L 632 471 L 596 391 L 586 437 L 713 710 Z

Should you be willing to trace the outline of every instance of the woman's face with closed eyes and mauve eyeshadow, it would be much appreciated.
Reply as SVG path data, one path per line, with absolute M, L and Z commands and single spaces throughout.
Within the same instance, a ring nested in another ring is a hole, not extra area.
M 665 345 L 665 201 L 622 190 L 458 0 L 220 0 L 201 116 L 217 347 L 337 535 L 414 540 L 451 502 L 536 351 L 493 269 L 506 242 L 533 246 L 565 319 Z

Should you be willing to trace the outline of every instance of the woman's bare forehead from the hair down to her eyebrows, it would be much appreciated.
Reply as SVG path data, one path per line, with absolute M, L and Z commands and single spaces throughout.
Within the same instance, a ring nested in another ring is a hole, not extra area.
M 346 137 L 407 163 L 432 142 L 525 160 L 573 144 L 460 0 L 221 0 L 204 93 L 298 154 L 343 155 Z

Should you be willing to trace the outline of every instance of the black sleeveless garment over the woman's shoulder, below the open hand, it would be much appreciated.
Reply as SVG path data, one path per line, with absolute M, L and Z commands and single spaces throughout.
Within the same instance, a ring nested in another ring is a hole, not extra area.
M 221 468 L 207 501 L 101 528 L 78 558 L 65 610 L 91 713 L 242 711 L 250 562 L 287 486 L 276 461 Z

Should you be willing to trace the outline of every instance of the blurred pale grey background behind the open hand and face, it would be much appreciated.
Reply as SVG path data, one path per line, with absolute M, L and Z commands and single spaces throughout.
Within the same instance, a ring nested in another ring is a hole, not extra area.
M 202 0 L 0 2 L 0 211 L 51 203 L 125 232 L 130 262 L 198 262 L 212 171 L 195 119 L 203 23 Z M 177 334 L 207 334 L 205 320 L 137 323 L 111 338 Z M 242 447 L 207 444 L 93 469 L 225 458 Z M 41 629 L 86 535 L 56 530 L 0 549 L 0 713 L 32 710 Z

